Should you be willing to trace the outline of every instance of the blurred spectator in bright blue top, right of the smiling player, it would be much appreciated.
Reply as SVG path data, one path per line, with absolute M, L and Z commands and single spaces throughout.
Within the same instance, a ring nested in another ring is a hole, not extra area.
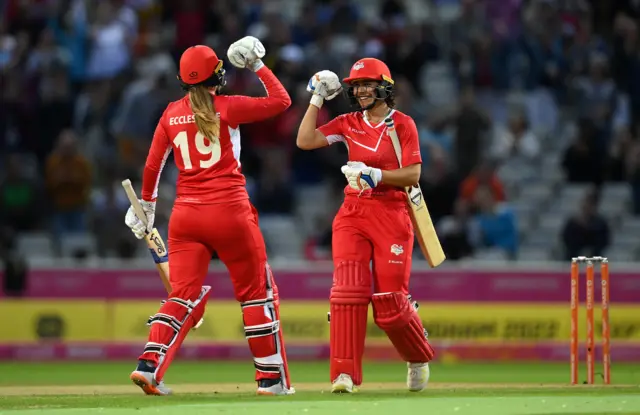
M 471 237 L 478 248 L 498 248 L 510 259 L 518 254 L 518 226 L 513 210 L 506 203 L 498 202 L 488 186 L 480 186 L 475 193 L 478 213 L 474 218 Z

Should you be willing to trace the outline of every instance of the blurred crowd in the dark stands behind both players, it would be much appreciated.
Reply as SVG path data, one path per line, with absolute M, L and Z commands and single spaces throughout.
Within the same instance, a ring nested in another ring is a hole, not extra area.
M 148 255 L 123 223 L 120 182 L 139 184 L 156 122 L 181 97 L 182 51 L 207 44 L 226 58 L 250 34 L 293 100 L 241 127 L 272 257 L 330 257 L 346 149 L 303 152 L 295 135 L 309 77 L 342 78 L 361 57 L 387 62 L 398 109 L 418 125 L 421 186 L 449 259 L 638 257 L 638 1 L 0 0 L 0 15 L 5 255 Z M 263 94 L 253 73 L 225 67 L 227 93 Z M 331 101 L 320 122 L 347 104 Z

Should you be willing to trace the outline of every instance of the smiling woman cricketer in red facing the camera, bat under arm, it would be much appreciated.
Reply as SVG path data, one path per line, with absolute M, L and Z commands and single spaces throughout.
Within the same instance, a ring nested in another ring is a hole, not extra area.
M 360 110 L 316 129 L 324 100 L 342 89 L 336 74 L 318 72 L 307 87 L 313 95 L 297 137 L 304 150 L 337 142 L 349 150 L 349 162 L 342 167 L 349 184 L 332 229 L 332 391 L 350 393 L 362 383 L 370 302 L 375 323 L 407 362 L 407 387 L 420 391 L 427 386 L 434 351 L 409 296 L 413 227 L 403 190 L 420 178 L 418 132 L 411 117 L 394 109 L 393 79 L 382 61 L 357 61 L 343 82 Z M 400 138 L 402 168 L 387 135 L 388 117 Z

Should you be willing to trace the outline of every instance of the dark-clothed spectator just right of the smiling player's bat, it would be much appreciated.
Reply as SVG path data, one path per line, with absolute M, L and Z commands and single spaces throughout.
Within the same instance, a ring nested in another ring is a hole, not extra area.
M 473 226 L 469 203 L 458 199 L 453 214 L 442 218 L 436 225 L 447 260 L 457 261 L 473 255 Z

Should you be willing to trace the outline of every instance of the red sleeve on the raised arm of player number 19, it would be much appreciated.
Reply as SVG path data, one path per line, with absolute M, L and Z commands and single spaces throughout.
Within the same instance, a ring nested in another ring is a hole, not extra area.
M 226 105 L 221 108 L 220 116 L 230 125 L 247 124 L 266 120 L 289 108 L 291 97 L 271 69 L 263 66 L 256 72 L 267 90 L 262 98 L 241 95 L 225 96 Z

